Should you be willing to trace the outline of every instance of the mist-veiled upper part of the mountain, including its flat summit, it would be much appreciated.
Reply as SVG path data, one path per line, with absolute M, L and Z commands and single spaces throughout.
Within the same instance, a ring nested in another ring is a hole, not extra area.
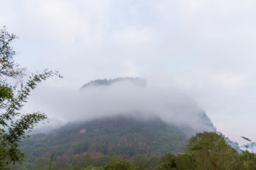
M 215 131 L 210 118 L 192 98 L 170 89 L 146 86 L 142 78 L 97 79 L 83 85 L 80 93 L 93 114 L 129 114 L 145 119 L 156 116 L 171 125 Z

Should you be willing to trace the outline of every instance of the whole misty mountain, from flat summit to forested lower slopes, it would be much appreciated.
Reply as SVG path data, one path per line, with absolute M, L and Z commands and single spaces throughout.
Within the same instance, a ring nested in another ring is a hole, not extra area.
M 28 161 L 53 152 L 60 157 L 85 152 L 127 157 L 177 153 L 196 132 L 216 131 L 192 98 L 151 89 L 141 78 L 90 81 L 80 95 L 84 106 L 79 114 L 70 113 L 80 115 L 79 121 L 23 141 Z

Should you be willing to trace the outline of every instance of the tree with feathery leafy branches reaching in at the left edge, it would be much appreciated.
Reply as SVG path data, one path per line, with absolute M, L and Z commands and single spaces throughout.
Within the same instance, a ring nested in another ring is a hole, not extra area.
M 22 114 L 21 108 L 36 85 L 58 72 L 48 71 L 27 76 L 26 68 L 14 62 L 16 52 L 11 42 L 18 38 L 0 30 L 0 169 L 9 169 L 8 165 L 23 162 L 24 154 L 18 149 L 21 139 L 26 137 L 33 127 L 46 118 L 44 113 Z M 23 79 L 28 79 L 25 83 Z

